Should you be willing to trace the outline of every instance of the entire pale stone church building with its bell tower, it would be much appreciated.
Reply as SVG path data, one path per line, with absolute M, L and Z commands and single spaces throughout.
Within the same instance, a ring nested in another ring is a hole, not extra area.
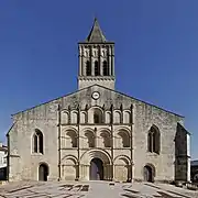
M 78 90 L 12 116 L 9 180 L 190 180 L 184 117 L 114 89 L 97 20 L 78 52 Z

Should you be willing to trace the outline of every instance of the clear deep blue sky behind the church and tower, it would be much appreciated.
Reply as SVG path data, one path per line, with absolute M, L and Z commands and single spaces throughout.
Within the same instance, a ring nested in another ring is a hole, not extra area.
M 77 89 L 97 16 L 116 42 L 117 89 L 186 117 L 198 158 L 198 1 L 0 1 L 0 139 L 11 114 Z

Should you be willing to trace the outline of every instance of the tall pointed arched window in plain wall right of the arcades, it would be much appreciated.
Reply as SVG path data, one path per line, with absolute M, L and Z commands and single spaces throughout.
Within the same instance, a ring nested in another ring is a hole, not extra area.
M 160 130 L 153 125 L 147 133 L 147 151 L 151 153 L 160 154 L 160 146 L 161 146 Z

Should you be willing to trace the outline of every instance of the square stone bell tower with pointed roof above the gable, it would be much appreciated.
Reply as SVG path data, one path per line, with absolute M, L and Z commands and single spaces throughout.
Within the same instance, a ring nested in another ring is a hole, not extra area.
M 78 89 L 95 84 L 114 89 L 114 43 L 106 40 L 97 19 L 78 50 Z

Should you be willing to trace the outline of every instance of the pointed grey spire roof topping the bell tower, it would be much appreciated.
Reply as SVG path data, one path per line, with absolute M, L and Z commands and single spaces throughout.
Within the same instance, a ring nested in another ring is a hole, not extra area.
M 105 42 L 107 42 L 106 36 L 103 35 L 103 33 L 100 29 L 100 25 L 98 23 L 98 20 L 96 18 L 95 18 L 92 29 L 86 38 L 86 42 L 89 42 L 89 43 L 105 43 Z

